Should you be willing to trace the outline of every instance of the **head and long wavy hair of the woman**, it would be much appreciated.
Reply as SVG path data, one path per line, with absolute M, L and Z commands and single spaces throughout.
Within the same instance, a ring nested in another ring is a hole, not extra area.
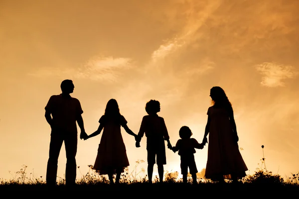
M 221 87 L 213 87 L 211 89 L 210 96 L 212 98 L 212 104 L 215 107 L 224 107 L 228 110 L 232 110 L 232 104 Z

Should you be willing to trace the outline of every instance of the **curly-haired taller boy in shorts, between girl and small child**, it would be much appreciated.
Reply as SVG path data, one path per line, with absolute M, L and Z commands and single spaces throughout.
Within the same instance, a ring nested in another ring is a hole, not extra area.
M 163 182 L 164 166 L 166 164 L 165 141 L 167 147 L 171 148 L 168 131 L 163 117 L 157 115 L 160 111 L 160 102 L 149 100 L 146 104 L 145 115 L 142 119 L 140 130 L 136 138 L 136 147 L 140 147 L 140 141 L 144 134 L 147 137 L 148 152 L 148 177 L 149 183 L 152 183 L 153 165 L 158 167 L 159 182 Z

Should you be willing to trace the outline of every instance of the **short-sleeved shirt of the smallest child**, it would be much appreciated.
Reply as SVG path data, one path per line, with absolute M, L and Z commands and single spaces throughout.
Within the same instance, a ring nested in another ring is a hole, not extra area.
M 175 148 L 178 149 L 178 155 L 192 155 L 196 153 L 195 148 L 199 143 L 194 138 L 189 139 L 179 139 L 175 144 Z

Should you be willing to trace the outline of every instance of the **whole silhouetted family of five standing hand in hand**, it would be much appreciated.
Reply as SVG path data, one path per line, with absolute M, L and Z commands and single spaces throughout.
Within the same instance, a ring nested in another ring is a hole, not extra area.
M 180 156 L 180 168 L 183 183 L 187 183 L 188 170 L 192 183 L 197 183 L 198 173 L 194 159 L 195 149 L 203 149 L 208 144 L 208 158 L 205 168 L 205 178 L 224 182 L 224 179 L 237 181 L 246 176 L 247 166 L 240 154 L 236 123 L 232 104 L 221 87 L 210 90 L 212 105 L 207 110 L 207 123 L 202 142 L 192 138 L 188 126 L 182 126 L 175 146 L 172 146 L 164 118 L 157 113 L 160 111 L 158 100 L 149 100 L 145 109 L 147 115 L 142 119 L 139 132 L 134 133 L 127 125 L 126 118 L 120 113 L 117 100 L 107 102 L 105 112 L 99 119 L 98 129 L 88 135 L 85 132 L 80 101 L 70 96 L 74 91 L 72 80 L 64 80 L 61 85 L 62 93 L 53 95 L 45 106 L 45 118 L 51 127 L 49 158 L 46 170 L 46 184 L 56 185 L 58 157 L 64 142 L 66 151 L 66 185 L 72 186 L 76 181 L 77 153 L 77 123 L 81 130 L 80 139 L 87 140 L 99 135 L 101 141 L 93 169 L 100 175 L 108 175 L 110 184 L 118 184 L 121 174 L 129 164 L 126 146 L 121 134 L 121 128 L 135 137 L 136 147 L 140 147 L 141 139 L 147 139 L 148 180 L 152 183 L 154 164 L 157 165 L 159 182 L 163 182 L 166 164 L 165 141 L 167 148 Z M 208 136 L 209 135 L 209 136 Z M 114 175 L 116 175 L 114 181 Z

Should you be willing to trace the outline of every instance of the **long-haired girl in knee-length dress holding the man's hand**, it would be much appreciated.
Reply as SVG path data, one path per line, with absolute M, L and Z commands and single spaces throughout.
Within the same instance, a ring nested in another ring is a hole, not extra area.
M 100 175 L 108 174 L 110 184 L 114 184 L 113 175 L 116 174 L 115 183 L 119 183 L 121 173 L 130 165 L 121 126 L 130 135 L 137 135 L 127 126 L 127 120 L 121 115 L 115 99 L 108 101 L 105 114 L 101 116 L 99 123 L 98 130 L 87 136 L 88 139 L 99 135 L 104 129 L 93 169 Z

